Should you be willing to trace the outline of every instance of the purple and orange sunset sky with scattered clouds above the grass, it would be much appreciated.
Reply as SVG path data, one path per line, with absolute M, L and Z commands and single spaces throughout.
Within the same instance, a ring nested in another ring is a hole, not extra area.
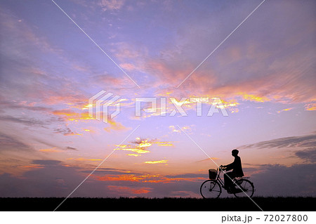
M 261 3 L 1 0 L 0 197 L 201 197 L 235 148 L 257 196 L 315 197 L 316 2 Z

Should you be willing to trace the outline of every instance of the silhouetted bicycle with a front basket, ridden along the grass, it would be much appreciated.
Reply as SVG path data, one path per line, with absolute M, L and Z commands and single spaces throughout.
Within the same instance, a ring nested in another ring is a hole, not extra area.
M 222 187 L 225 189 L 223 180 L 220 178 L 220 173 L 223 171 L 222 167 L 209 170 L 209 180 L 205 180 L 199 188 L 203 198 L 218 198 L 222 193 Z M 247 180 L 246 177 L 233 178 L 232 182 L 235 188 L 232 192 L 228 192 L 229 194 L 234 194 L 235 197 L 252 197 L 254 195 L 254 183 Z

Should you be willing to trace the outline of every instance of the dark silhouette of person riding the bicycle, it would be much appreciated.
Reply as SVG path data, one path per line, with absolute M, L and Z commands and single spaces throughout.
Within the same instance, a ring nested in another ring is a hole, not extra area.
M 224 188 L 228 190 L 228 192 L 232 192 L 235 186 L 232 183 L 233 178 L 244 176 L 244 172 L 242 171 L 242 160 L 238 156 L 238 150 L 232 150 L 232 156 L 235 157 L 234 162 L 223 166 L 223 170 L 230 171 L 224 174 Z

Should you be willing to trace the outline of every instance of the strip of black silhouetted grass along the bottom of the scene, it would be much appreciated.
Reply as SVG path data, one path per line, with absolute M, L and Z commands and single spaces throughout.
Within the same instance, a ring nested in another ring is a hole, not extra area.
M 0 198 L 2 211 L 53 211 L 65 198 Z M 263 211 L 315 211 L 316 197 L 254 197 Z M 56 211 L 261 211 L 249 198 L 68 198 Z

